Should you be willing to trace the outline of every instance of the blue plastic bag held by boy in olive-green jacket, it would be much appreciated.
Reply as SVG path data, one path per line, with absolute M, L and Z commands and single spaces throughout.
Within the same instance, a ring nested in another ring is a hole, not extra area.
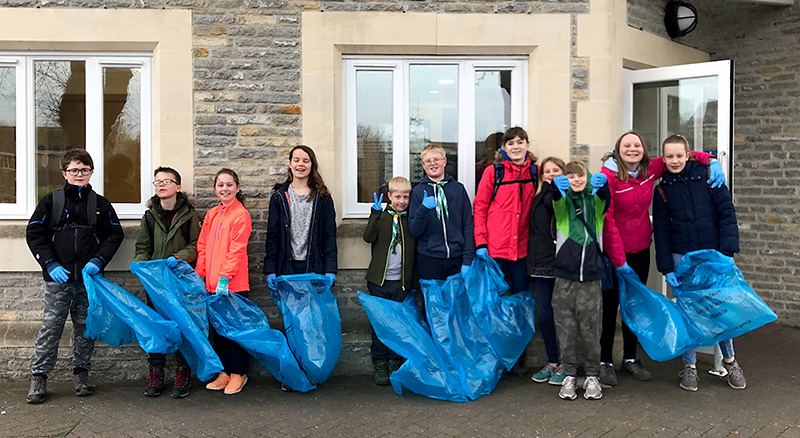
M 165 260 L 132 262 L 131 272 L 142 282 L 156 311 L 175 321 L 181 332 L 178 350 L 202 381 L 222 371 L 222 362 L 208 340 L 206 286 L 184 260 L 170 269 Z

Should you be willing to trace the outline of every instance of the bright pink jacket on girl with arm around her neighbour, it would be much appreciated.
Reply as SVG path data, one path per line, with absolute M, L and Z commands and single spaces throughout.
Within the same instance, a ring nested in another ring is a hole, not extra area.
M 692 155 L 705 165 L 710 158 L 714 158 L 705 152 L 695 151 Z M 608 161 L 613 161 L 613 158 Z M 613 164 L 616 167 L 616 163 Z M 611 192 L 611 205 L 603 227 L 604 252 L 615 267 L 625 264 L 625 253 L 636 253 L 650 247 L 653 225 L 648 210 L 653 201 L 655 181 L 664 174 L 664 168 L 661 157 L 653 158 L 646 176 L 628 177 L 626 181 L 622 181 L 619 173 L 606 165 L 601 169 L 608 177 L 608 189 Z

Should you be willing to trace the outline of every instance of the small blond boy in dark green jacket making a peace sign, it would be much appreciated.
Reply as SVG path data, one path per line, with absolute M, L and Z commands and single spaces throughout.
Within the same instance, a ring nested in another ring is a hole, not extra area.
M 389 204 L 381 207 L 380 199 L 373 193 L 375 203 L 364 229 L 364 240 L 372 244 L 372 260 L 367 269 L 367 289 L 370 295 L 392 301 L 403 301 L 416 284 L 416 242 L 408 230 L 408 201 L 411 182 L 402 176 L 389 180 Z M 389 375 L 397 371 L 403 358 L 390 350 L 372 330 L 372 363 L 375 366 L 375 383 L 389 384 Z

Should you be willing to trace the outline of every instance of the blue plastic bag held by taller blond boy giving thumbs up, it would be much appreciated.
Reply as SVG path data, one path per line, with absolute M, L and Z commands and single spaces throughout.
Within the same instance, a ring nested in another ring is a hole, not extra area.
M 503 375 L 503 364 L 472 315 L 461 274 L 420 284 L 433 340 L 458 373 L 467 397 L 475 400 L 491 393 Z

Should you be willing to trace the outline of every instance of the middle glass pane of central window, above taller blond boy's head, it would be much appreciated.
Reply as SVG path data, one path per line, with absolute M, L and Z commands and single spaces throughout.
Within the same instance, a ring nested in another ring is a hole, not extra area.
M 444 148 L 445 171 L 458 177 L 458 66 L 411 65 L 408 93 L 410 180 L 425 175 L 419 153 L 430 144 Z

